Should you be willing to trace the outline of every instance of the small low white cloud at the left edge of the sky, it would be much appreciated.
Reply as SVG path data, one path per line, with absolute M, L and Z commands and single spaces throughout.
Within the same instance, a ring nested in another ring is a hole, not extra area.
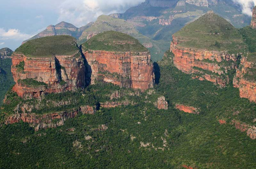
M 31 35 L 21 33 L 18 29 L 9 29 L 6 31 L 4 28 L 0 28 L 0 39 L 1 40 L 26 40 L 30 38 Z

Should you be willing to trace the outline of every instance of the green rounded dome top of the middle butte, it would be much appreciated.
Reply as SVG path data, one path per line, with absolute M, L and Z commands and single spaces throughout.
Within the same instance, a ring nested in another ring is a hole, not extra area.
M 147 52 L 138 40 L 127 34 L 116 31 L 107 31 L 100 33 L 82 46 L 89 50 L 106 50 L 113 52 Z

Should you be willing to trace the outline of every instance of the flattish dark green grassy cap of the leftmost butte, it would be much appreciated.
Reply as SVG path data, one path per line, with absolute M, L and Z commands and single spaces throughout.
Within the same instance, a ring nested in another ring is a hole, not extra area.
M 55 55 L 73 55 L 78 50 L 75 38 L 61 35 L 30 40 L 16 49 L 15 52 L 30 57 L 52 57 Z

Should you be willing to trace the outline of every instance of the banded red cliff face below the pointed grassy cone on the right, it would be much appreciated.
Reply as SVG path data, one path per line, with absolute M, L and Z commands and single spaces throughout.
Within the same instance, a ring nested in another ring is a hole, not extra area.
M 173 36 L 170 51 L 174 54 L 174 66 L 193 78 L 208 80 L 225 87 L 229 83 L 228 71 L 235 69 L 238 56 L 226 52 L 197 50 L 178 46 L 182 39 Z M 231 61 L 230 64 L 222 64 Z M 232 62 L 233 61 L 233 62 Z

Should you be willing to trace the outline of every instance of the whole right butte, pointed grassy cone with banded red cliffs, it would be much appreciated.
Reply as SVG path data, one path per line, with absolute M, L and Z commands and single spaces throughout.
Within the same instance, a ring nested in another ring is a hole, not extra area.
M 228 50 L 233 49 L 224 44 L 227 41 L 224 35 L 234 33 L 238 34 L 231 24 L 212 11 L 208 12 L 173 35 L 170 50 L 174 54 L 174 66 L 186 74 L 192 74 L 192 78 L 208 80 L 225 87 L 230 82 L 228 72 L 236 69 L 236 61 L 240 57 L 238 51 L 230 52 Z M 217 37 L 218 40 L 223 38 L 223 42 L 217 42 Z M 242 37 L 239 35 L 236 38 L 234 43 L 237 49 L 243 51 Z

